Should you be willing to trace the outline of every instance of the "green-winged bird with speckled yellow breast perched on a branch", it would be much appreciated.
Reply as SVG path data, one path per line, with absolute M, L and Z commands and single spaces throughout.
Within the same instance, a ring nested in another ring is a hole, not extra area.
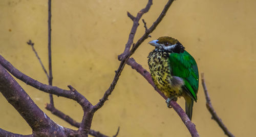
M 186 114 L 191 120 L 193 104 L 197 102 L 199 78 L 195 59 L 175 38 L 165 36 L 148 43 L 156 47 L 148 55 L 152 80 L 168 98 L 167 106 L 171 100 L 184 97 Z

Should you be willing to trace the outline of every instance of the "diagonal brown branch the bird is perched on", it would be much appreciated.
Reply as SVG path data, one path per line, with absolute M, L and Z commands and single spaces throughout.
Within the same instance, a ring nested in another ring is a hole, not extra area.
M 139 74 L 141 74 L 148 83 L 150 83 L 155 90 L 166 100 L 167 98 L 164 96 L 163 93 L 156 87 L 154 82 L 152 81 L 151 75 L 147 72 L 140 64 L 138 64 L 133 58 L 130 58 L 127 62 L 128 65 L 132 66 L 132 69 L 136 70 Z M 183 123 L 186 125 L 187 129 L 189 130 L 191 136 L 199 136 L 196 126 L 192 123 L 189 118 L 187 117 L 184 110 L 180 107 L 180 105 L 175 101 L 170 101 L 170 106 L 174 108 L 174 110 L 178 113 Z

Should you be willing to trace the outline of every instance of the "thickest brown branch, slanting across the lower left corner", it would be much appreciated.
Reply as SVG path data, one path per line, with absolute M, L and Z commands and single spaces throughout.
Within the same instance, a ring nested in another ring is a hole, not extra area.
M 0 92 L 18 111 L 33 130 L 34 136 L 62 136 L 76 131 L 64 128 L 53 122 L 29 97 L 25 90 L 0 65 Z M 59 132 L 54 132 L 59 131 Z M 2 133 L 0 133 L 0 136 Z M 7 132 L 4 132 L 7 134 Z M 9 134 L 12 135 L 12 134 Z M 7 136 L 9 136 L 7 135 Z

